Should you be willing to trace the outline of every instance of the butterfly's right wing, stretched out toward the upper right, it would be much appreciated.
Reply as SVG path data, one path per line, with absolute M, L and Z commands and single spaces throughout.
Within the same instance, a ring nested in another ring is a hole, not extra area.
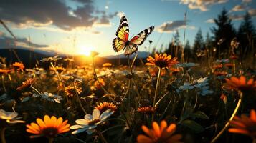
M 143 31 L 141 31 L 139 34 L 137 34 L 136 36 L 134 36 L 130 42 L 136 45 L 141 45 L 143 44 L 143 42 L 146 40 L 146 38 L 148 37 L 149 34 L 151 34 L 151 32 L 153 31 L 154 27 L 148 27 L 148 29 L 145 29 Z

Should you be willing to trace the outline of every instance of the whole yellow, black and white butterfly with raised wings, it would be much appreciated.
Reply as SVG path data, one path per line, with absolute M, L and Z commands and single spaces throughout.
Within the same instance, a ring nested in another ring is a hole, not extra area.
M 138 45 L 143 44 L 143 42 L 146 40 L 149 34 L 153 31 L 154 27 L 148 27 L 148 29 L 145 29 L 141 31 L 139 34 L 134 36 L 131 40 L 129 40 L 129 26 L 128 21 L 123 16 L 120 19 L 120 24 L 118 27 L 118 31 L 116 31 L 115 35 L 117 36 L 113 40 L 113 49 L 118 52 L 123 49 L 125 50 L 125 56 L 130 56 L 133 53 L 136 53 L 138 51 Z

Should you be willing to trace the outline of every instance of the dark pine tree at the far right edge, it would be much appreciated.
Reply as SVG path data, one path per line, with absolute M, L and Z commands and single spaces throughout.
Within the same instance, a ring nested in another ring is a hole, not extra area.
M 240 42 L 240 53 L 247 54 L 252 52 L 253 43 L 255 43 L 256 34 L 255 26 L 252 24 L 252 17 L 247 12 L 244 16 L 244 21 L 240 24 L 238 30 L 238 41 Z

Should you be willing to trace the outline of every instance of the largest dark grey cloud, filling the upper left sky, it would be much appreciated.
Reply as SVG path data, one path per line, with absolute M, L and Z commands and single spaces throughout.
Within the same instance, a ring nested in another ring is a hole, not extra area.
M 4 0 L 0 3 L 0 17 L 22 26 L 47 26 L 54 25 L 60 29 L 70 31 L 75 28 L 90 28 L 95 23 L 110 24 L 115 14 L 96 14 L 92 0 L 72 0 L 77 7 L 67 6 L 65 1 L 44 0 Z

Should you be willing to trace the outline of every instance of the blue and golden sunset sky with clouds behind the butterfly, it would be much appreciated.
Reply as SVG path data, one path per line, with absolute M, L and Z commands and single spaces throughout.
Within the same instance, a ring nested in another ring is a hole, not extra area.
M 256 25 L 256 0 L 1 0 L 0 19 L 16 36 L 19 48 L 57 54 L 100 56 L 122 54 L 112 47 L 120 17 L 128 19 L 130 39 L 143 29 L 155 26 L 138 51 L 165 48 L 174 32 L 180 41 L 193 44 L 199 28 L 205 37 L 215 26 L 213 19 L 225 8 L 237 29 L 248 11 Z M 186 26 L 184 14 L 186 12 Z M 166 27 L 166 28 L 165 28 Z M 11 35 L 0 25 L 0 49 L 10 47 Z

